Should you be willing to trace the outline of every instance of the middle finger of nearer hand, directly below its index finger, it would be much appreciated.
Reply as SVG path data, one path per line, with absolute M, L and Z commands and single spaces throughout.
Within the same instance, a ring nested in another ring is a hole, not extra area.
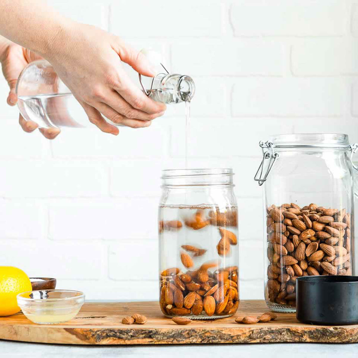
M 164 114 L 164 111 L 159 113 L 149 114 L 137 110 L 133 108 L 129 103 L 127 103 L 116 91 L 109 92 L 108 95 L 105 96 L 105 98 L 106 98 L 106 103 L 104 102 L 102 103 L 112 107 L 113 110 L 120 113 L 126 118 L 139 119 L 142 121 L 151 121 L 154 118 L 163 116 Z

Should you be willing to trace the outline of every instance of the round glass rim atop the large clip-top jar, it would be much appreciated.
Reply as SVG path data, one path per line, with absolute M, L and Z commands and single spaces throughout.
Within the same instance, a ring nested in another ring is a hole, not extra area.
M 348 135 L 340 133 L 279 134 L 271 136 L 269 142 L 274 148 L 350 148 Z

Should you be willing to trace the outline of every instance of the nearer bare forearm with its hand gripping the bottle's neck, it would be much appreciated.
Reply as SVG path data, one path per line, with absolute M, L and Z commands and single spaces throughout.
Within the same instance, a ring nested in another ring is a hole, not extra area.
M 89 120 L 102 131 L 118 134 L 101 113 L 115 123 L 137 128 L 150 125 L 165 111 L 165 105 L 146 97 L 122 68 L 121 61 L 153 76 L 141 53 L 115 35 L 65 18 L 42 0 L 1 0 L 0 34 L 51 62 Z

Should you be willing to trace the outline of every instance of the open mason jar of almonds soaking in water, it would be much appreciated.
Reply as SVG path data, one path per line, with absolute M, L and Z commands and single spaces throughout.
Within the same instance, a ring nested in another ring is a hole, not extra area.
M 159 303 L 168 317 L 212 319 L 239 305 L 232 169 L 164 170 L 159 204 Z

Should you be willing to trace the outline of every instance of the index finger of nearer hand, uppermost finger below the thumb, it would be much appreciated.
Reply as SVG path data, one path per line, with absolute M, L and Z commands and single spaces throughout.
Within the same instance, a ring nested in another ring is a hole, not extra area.
M 121 71 L 120 83 L 118 86 L 115 86 L 114 89 L 137 110 L 150 114 L 160 113 L 166 110 L 164 103 L 153 101 L 135 86 L 125 71 Z

